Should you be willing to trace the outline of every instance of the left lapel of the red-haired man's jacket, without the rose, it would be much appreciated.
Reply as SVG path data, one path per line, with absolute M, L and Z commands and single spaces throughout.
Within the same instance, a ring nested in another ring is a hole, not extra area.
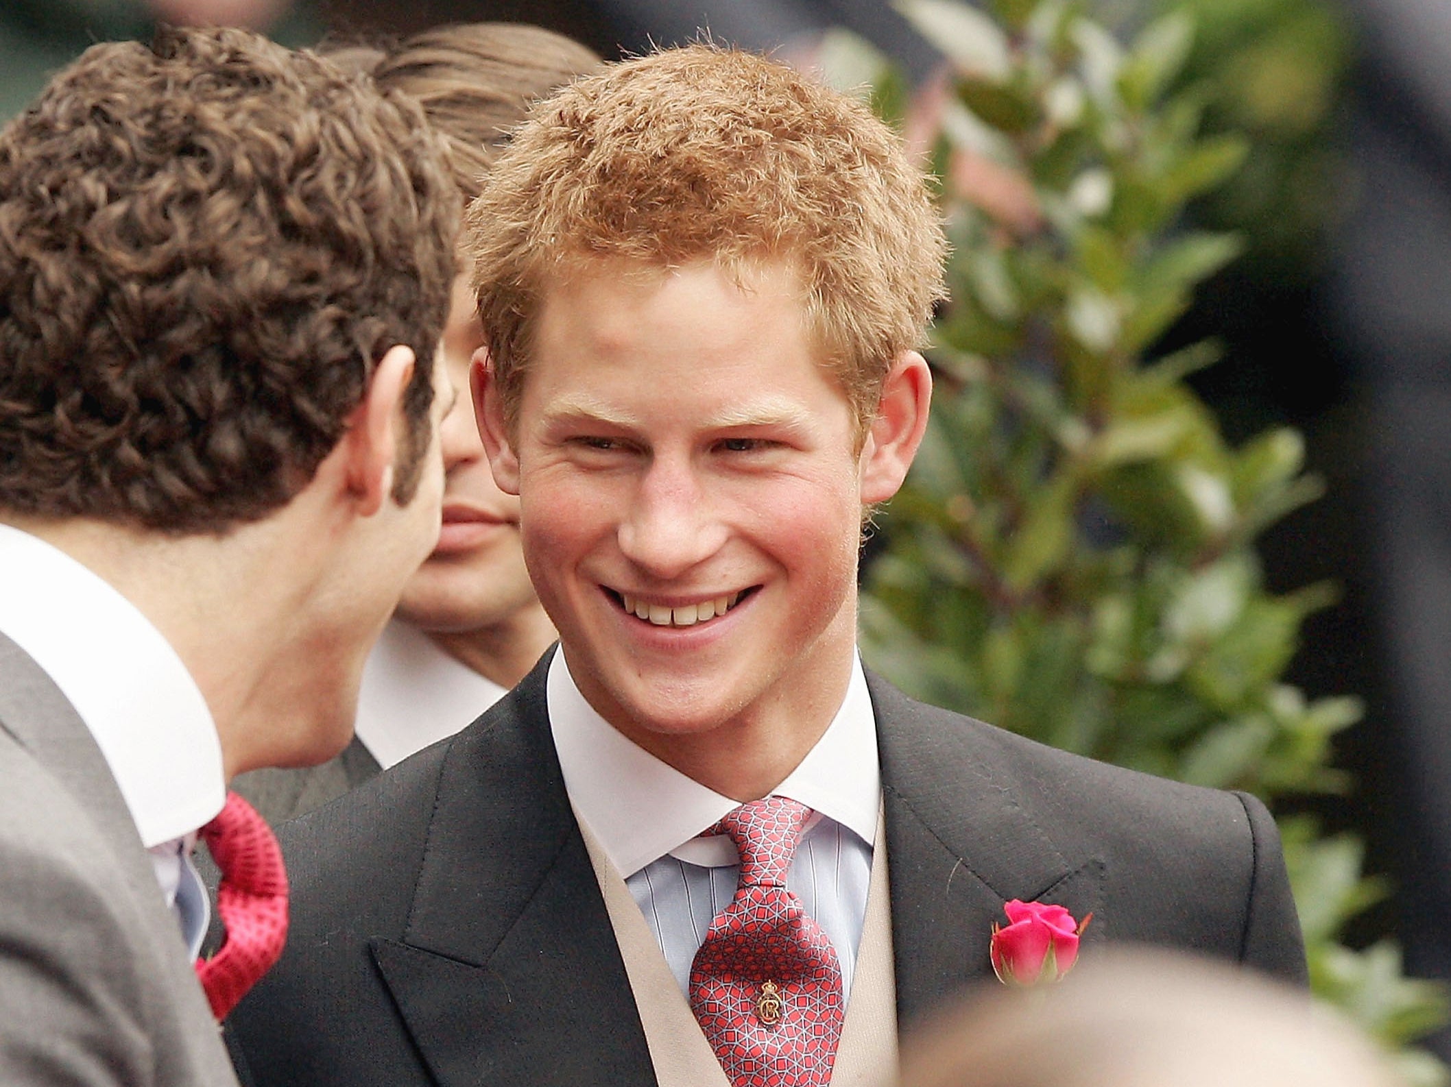
M 453 742 L 408 928 L 371 941 L 443 1087 L 654 1084 L 554 754 L 551 655 Z

